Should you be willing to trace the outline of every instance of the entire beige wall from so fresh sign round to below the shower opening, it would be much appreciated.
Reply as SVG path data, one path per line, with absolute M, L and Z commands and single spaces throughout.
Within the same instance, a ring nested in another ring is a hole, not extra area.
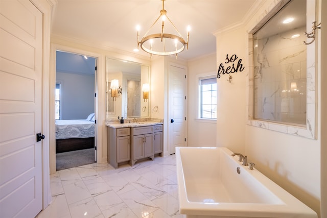
M 272 2 L 265 1 L 247 27 L 255 26 L 258 18 L 271 10 Z M 217 146 L 244 153 L 259 171 L 320 214 L 320 133 L 317 140 L 312 140 L 246 125 L 246 75 L 251 65 L 247 54 L 247 27 L 241 25 L 216 33 L 217 67 L 224 63 L 226 54 L 236 54 L 245 64 L 242 72 L 232 74 L 231 83 L 226 81 L 229 76 L 226 74 L 217 79 Z M 319 78 L 320 70 L 317 74 Z M 319 99 L 320 87 L 317 92 Z M 316 115 L 319 130 L 319 103 Z

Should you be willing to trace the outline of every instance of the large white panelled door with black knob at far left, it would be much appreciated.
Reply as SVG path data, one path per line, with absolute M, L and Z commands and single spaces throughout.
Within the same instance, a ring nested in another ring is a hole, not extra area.
M 30 1 L 0 1 L 0 216 L 42 208 L 42 13 Z

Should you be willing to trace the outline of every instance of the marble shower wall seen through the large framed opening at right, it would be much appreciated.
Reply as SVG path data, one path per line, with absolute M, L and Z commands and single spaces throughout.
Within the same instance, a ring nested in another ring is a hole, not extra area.
M 305 27 L 254 40 L 254 118 L 305 125 Z M 295 34 L 298 37 L 292 38 Z M 254 36 L 255 37 L 255 36 Z M 256 46 L 256 44 L 258 46 Z

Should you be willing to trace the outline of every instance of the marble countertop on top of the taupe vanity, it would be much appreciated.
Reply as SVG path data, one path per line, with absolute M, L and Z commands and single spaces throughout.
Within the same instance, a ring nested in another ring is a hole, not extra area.
M 120 123 L 120 119 L 106 119 L 105 125 L 111 128 L 126 128 L 126 127 L 143 127 L 164 124 L 164 119 L 157 118 L 137 118 L 136 122 L 133 119 L 124 119 L 124 124 Z

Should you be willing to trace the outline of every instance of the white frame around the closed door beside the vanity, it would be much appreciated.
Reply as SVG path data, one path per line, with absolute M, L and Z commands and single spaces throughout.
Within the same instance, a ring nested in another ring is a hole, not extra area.
M 170 125 L 170 117 L 171 117 L 171 110 L 170 110 L 170 66 L 174 66 L 174 67 L 178 67 L 178 68 L 182 68 L 182 69 L 185 69 L 185 80 L 184 80 L 184 83 L 185 83 L 185 86 L 184 86 L 184 95 L 186 96 L 186 99 L 184 101 L 185 105 L 184 105 L 184 115 L 186 117 L 186 120 L 184 122 L 184 132 L 185 132 L 185 138 L 186 138 L 186 142 L 184 143 L 184 146 L 188 146 L 188 67 L 185 66 L 185 65 L 180 65 L 180 64 L 177 64 L 177 63 L 174 63 L 174 62 L 170 62 L 168 61 L 168 110 L 167 110 L 167 113 L 168 113 L 168 120 L 167 120 L 167 132 L 168 132 L 168 138 L 167 138 L 167 141 L 168 141 L 168 154 L 171 153 L 171 147 L 170 147 L 170 141 L 171 141 L 171 134 L 170 134 L 170 131 L 171 131 L 171 125 Z

